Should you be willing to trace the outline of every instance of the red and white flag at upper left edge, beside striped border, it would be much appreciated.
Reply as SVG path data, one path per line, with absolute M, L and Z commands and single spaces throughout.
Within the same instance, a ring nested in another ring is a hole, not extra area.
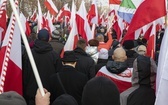
M 7 4 L 7 0 L 2 0 L 1 1 L 1 7 L 0 7 L 0 44 L 4 39 L 5 33 L 6 33 L 6 4 Z

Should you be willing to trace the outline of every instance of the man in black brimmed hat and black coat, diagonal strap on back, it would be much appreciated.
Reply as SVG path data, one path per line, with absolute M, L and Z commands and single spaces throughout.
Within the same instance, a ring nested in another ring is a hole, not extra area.
M 60 95 L 69 94 L 81 105 L 83 87 L 88 78 L 75 69 L 77 58 L 73 51 L 64 52 L 62 63 L 63 70 L 50 77 L 51 103 Z

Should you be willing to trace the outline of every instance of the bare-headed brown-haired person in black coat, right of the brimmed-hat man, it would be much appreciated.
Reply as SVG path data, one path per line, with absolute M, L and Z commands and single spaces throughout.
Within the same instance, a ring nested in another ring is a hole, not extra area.
M 87 75 L 88 79 L 91 79 L 95 76 L 95 63 L 94 60 L 87 55 L 85 52 L 86 41 L 84 39 L 80 39 L 77 42 L 77 48 L 74 49 L 75 56 L 78 58 L 76 69 L 79 72 Z

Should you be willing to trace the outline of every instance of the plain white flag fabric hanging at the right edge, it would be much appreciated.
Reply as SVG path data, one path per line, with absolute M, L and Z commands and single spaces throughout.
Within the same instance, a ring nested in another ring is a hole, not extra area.
M 156 77 L 156 100 L 155 105 L 168 103 L 168 27 L 166 27 L 159 54 L 157 77 Z

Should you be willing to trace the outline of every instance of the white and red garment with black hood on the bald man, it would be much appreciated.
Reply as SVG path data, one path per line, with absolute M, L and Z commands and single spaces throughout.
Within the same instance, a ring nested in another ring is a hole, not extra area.
M 132 69 L 128 68 L 126 62 L 108 61 L 96 76 L 110 78 L 117 85 L 120 93 L 131 87 Z

